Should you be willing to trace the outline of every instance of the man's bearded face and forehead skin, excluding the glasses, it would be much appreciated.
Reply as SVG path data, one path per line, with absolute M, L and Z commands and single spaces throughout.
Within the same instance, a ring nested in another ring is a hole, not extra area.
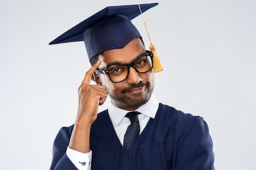
M 137 59 L 146 51 L 139 38 L 135 38 L 120 49 L 107 50 L 100 55 L 99 69 L 105 70 L 118 64 L 127 64 Z M 107 75 L 100 75 L 101 84 L 107 87 L 114 106 L 127 111 L 134 111 L 149 101 L 154 89 L 154 74 L 152 71 L 140 74 L 133 67 L 129 68 L 126 80 L 113 83 Z

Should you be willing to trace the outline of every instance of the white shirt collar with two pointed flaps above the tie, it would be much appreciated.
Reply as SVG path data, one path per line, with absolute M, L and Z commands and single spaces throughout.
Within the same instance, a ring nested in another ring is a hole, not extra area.
M 151 94 L 151 97 L 149 98 L 149 101 L 146 102 L 144 105 L 137 108 L 135 111 L 138 111 L 139 113 L 142 113 L 143 115 L 149 116 L 150 118 L 155 118 L 156 111 L 159 108 L 159 101 L 157 101 L 154 94 Z M 114 123 L 114 125 L 118 126 L 121 120 L 124 118 L 124 115 L 126 115 L 128 112 L 121 108 L 117 108 L 112 103 L 110 104 L 110 107 L 108 108 L 108 113 L 110 115 L 110 119 Z

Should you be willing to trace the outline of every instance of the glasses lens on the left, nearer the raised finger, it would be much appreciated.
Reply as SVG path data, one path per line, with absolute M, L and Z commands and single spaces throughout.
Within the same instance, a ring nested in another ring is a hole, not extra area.
M 110 69 L 110 79 L 114 82 L 122 81 L 127 77 L 128 68 L 126 65 Z

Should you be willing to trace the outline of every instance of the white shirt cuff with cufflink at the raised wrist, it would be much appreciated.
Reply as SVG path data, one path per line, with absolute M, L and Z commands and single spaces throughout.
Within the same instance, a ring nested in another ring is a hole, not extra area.
M 66 154 L 68 159 L 75 165 L 78 170 L 90 170 L 92 161 L 92 151 L 82 153 L 68 147 Z

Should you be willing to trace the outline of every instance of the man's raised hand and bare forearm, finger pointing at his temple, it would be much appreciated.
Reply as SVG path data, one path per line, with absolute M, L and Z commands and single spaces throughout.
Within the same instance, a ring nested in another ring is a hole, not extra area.
M 97 110 L 107 98 L 107 90 L 102 85 L 91 85 L 93 74 L 100 66 L 100 60 L 95 63 L 85 74 L 82 84 L 78 89 L 79 105 L 75 126 L 70 138 L 71 149 L 78 152 L 90 152 L 90 127 L 97 118 Z

